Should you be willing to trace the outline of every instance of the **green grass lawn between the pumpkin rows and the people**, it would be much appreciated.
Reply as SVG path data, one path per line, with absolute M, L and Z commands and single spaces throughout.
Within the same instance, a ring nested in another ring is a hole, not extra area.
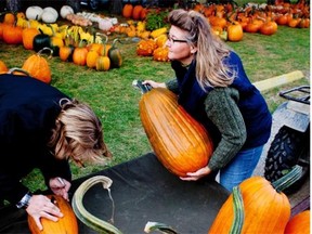
M 109 41 L 120 35 L 109 36 Z M 131 86 L 134 79 L 165 81 L 173 77 L 170 63 L 155 62 L 135 54 L 136 42 L 121 38 L 123 64 L 108 72 L 95 72 L 84 66 L 62 62 L 55 56 L 49 60 L 52 69 L 52 86 L 70 96 L 88 103 L 101 118 L 104 139 L 114 155 L 106 166 L 88 166 L 78 169 L 72 166 L 74 178 L 120 164 L 151 152 L 139 116 L 141 93 Z M 246 73 L 252 82 L 264 80 L 294 70 L 302 70 L 306 78 L 287 86 L 264 92 L 274 109 L 283 102 L 278 91 L 310 82 L 310 30 L 280 26 L 275 35 L 245 34 L 239 42 L 227 42 L 242 57 Z M 0 58 L 8 67 L 22 67 L 34 51 L 22 46 L 9 46 L 0 41 Z M 40 173 L 35 170 L 24 180 L 34 190 L 44 188 L 38 183 Z

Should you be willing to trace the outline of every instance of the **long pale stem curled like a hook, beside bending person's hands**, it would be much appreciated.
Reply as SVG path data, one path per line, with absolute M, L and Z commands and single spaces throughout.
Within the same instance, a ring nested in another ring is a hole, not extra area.
M 113 216 L 110 219 L 113 220 L 115 206 L 114 206 L 114 200 L 112 198 L 110 190 L 109 190 L 113 181 L 109 178 L 104 177 L 104 176 L 92 177 L 79 185 L 72 200 L 73 210 L 81 222 L 83 222 L 86 225 L 95 230 L 99 233 L 121 234 L 121 232 L 116 226 L 94 217 L 89 211 L 87 211 L 87 209 L 83 207 L 82 199 L 87 191 L 94 184 L 101 183 L 101 182 L 103 183 L 103 187 L 108 191 L 109 198 L 113 203 Z

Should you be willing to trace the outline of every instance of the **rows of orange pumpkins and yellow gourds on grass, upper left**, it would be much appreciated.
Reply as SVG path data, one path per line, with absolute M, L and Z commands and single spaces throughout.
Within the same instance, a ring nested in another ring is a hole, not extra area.
M 0 40 L 8 44 L 23 44 L 26 50 L 50 48 L 54 56 L 96 70 L 118 68 L 122 64 L 120 50 L 104 34 L 84 31 L 81 26 L 41 23 L 26 20 L 23 12 L 6 13 L 0 23 Z M 46 50 L 47 51 L 47 50 Z M 38 56 L 41 56 L 38 53 Z M 31 75 L 31 74 L 30 74 Z

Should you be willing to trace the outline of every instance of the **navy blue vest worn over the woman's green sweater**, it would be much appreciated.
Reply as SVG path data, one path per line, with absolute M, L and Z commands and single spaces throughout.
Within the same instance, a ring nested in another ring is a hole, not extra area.
M 247 140 L 243 148 L 263 145 L 270 138 L 272 125 L 272 116 L 265 100 L 259 90 L 249 81 L 242 61 L 235 52 L 231 52 L 224 60 L 224 63 L 236 73 L 236 78 L 231 87 L 237 89 L 239 92 L 237 105 L 247 130 Z M 209 95 L 209 91 L 211 91 L 212 88 L 207 88 L 206 91 L 204 91 L 199 87 L 195 77 L 195 61 L 193 61 L 188 68 L 181 66 L 179 62 L 172 62 L 171 66 L 178 79 L 180 90 L 179 104 L 206 127 L 217 145 L 220 141 L 220 131 L 207 117 L 204 105 L 206 96 Z

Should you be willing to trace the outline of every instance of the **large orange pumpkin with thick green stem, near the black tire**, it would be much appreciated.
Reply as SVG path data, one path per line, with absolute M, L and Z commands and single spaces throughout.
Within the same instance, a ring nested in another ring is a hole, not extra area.
M 251 177 L 239 184 L 244 206 L 244 233 L 284 234 L 290 218 L 290 203 L 282 192 L 300 178 L 302 168 L 295 166 L 290 172 L 271 183 L 263 177 Z M 209 234 L 230 233 L 233 220 L 233 193 L 219 210 Z

